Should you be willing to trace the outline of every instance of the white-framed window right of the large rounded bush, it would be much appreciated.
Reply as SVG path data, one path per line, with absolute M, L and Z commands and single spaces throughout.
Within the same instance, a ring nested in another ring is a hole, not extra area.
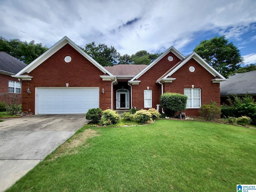
M 187 108 L 201 107 L 201 89 L 184 89 L 184 95 L 188 96 Z

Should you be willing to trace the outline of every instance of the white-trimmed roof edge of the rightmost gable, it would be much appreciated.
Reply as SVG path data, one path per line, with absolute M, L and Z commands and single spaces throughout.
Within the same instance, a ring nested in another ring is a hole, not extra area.
M 202 67 L 204 67 L 212 76 L 215 78 L 212 79 L 213 82 L 220 82 L 226 80 L 224 76 L 222 76 L 219 72 L 217 72 L 212 66 L 210 66 L 204 59 L 202 59 L 196 52 L 190 54 L 190 56 L 186 57 L 182 62 L 176 64 L 173 68 L 171 68 L 168 73 L 164 74 L 161 78 L 159 78 L 156 82 L 160 82 L 162 79 L 167 79 L 172 74 L 174 74 L 178 69 L 180 69 L 186 62 L 190 59 L 196 60 Z

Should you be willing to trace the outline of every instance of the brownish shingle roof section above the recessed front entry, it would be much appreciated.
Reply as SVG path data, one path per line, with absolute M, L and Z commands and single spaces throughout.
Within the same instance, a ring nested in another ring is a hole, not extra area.
M 146 66 L 147 65 L 120 64 L 104 68 L 115 76 L 135 76 L 146 68 Z

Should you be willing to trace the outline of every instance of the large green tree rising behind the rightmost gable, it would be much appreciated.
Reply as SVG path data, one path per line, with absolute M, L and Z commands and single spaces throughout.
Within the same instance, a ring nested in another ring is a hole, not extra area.
M 200 42 L 194 52 L 200 55 L 224 77 L 240 68 L 243 58 L 240 50 L 232 42 L 228 43 L 225 36 L 214 37 Z

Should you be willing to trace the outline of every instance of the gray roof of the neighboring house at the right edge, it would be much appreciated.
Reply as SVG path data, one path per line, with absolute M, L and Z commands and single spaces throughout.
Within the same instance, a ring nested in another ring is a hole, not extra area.
M 256 70 L 246 73 L 236 73 L 228 80 L 220 82 L 220 95 L 256 94 Z

